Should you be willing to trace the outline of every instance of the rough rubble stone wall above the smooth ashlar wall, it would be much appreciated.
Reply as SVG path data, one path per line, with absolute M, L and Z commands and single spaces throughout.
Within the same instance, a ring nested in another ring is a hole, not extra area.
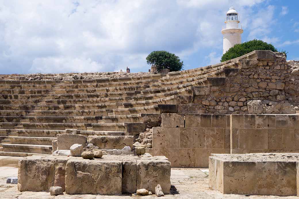
M 194 103 L 201 104 L 202 113 L 296 113 L 299 76 L 292 65 L 294 61 L 287 62 L 283 53 L 259 60 L 239 60 L 234 70 L 226 74 L 224 84 L 211 85 L 210 95 L 195 97 Z M 224 73 L 225 70 L 229 69 Z

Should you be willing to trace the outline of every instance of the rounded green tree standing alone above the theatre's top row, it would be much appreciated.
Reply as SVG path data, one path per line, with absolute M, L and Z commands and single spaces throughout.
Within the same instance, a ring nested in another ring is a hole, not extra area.
M 157 70 L 167 68 L 170 72 L 183 69 L 183 61 L 173 53 L 160 50 L 153 51 L 147 55 L 147 64 L 155 65 Z

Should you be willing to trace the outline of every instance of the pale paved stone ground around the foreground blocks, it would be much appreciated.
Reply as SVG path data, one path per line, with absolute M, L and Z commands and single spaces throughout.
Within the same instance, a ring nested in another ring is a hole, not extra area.
M 157 198 L 152 196 L 101 196 L 101 195 L 59 195 L 50 196 L 48 192 L 18 192 L 17 185 L 6 184 L 6 178 L 17 176 L 18 168 L 12 164 L 12 160 L 17 159 L 0 157 L 0 198 L 1 199 L 149 199 Z M 171 170 L 171 194 L 160 197 L 161 199 L 299 199 L 299 197 L 277 197 L 277 196 L 244 196 L 244 195 L 224 195 L 218 191 L 209 189 L 207 169 L 172 169 Z

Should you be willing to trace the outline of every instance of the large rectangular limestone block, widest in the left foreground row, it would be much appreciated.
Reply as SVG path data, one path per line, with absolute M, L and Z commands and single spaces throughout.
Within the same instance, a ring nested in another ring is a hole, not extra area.
M 121 161 L 70 159 L 65 170 L 67 194 L 121 195 Z

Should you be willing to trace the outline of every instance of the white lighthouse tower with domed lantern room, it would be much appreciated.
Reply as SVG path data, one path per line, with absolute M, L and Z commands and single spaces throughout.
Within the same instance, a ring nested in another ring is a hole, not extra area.
M 226 13 L 226 25 L 222 27 L 221 33 L 223 34 L 223 54 L 228 51 L 235 44 L 241 43 L 241 34 L 243 33 L 242 27 L 239 27 L 240 17 L 232 6 Z

